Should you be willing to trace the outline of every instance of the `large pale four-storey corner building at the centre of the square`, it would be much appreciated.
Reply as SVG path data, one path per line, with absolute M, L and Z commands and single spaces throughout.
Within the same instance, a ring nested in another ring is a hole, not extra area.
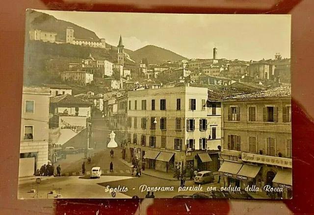
M 208 89 L 182 86 L 128 92 L 127 156 L 146 168 L 210 169 Z

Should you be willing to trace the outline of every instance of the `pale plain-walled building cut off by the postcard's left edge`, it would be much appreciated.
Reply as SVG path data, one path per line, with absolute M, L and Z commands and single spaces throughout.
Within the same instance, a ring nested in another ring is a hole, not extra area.
M 23 87 L 19 177 L 48 164 L 49 88 Z

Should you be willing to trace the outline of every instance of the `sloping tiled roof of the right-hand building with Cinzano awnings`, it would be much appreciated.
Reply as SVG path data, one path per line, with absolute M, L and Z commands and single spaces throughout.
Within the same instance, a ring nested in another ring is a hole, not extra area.
M 291 97 L 291 84 L 281 84 L 279 87 L 274 87 L 271 89 L 262 90 L 254 93 L 225 97 L 223 99 L 233 100 L 233 99 L 259 99 L 277 97 Z

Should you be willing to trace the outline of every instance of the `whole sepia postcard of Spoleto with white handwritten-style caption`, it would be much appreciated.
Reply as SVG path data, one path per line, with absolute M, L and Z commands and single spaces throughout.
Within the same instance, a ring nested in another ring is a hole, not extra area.
M 290 31 L 26 10 L 18 198 L 291 199 Z

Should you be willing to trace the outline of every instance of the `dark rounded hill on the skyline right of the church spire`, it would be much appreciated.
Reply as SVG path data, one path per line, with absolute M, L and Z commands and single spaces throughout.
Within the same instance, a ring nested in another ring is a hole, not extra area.
M 150 64 L 163 63 L 164 60 L 176 61 L 186 59 L 179 54 L 153 45 L 145 46 L 129 54 L 135 62 L 139 62 L 146 57 Z

